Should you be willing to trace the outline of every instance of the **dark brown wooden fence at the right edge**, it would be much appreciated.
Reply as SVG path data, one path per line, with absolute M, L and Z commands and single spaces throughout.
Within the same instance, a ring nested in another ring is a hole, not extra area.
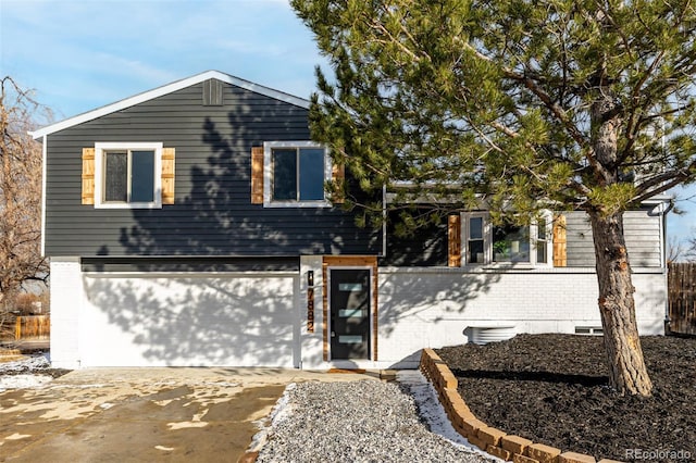
M 668 265 L 670 331 L 696 336 L 696 263 Z

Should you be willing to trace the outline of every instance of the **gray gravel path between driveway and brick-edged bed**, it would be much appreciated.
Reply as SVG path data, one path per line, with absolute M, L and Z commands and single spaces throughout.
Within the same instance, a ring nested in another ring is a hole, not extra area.
M 290 385 L 260 437 L 257 461 L 490 462 L 447 429 L 433 393 L 418 372 L 398 383 Z

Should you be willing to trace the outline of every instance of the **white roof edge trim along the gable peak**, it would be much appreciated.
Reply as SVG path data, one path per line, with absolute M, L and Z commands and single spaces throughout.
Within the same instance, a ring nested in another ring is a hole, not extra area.
M 181 90 L 186 87 L 190 87 L 191 85 L 200 84 L 201 82 L 204 82 L 211 78 L 244 88 L 249 91 L 253 91 L 256 93 L 274 98 L 279 101 L 285 101 L 286 103 L 290 103 L 296 107 L 309 109 L 310 102 L 309 100 L 306 100 L 303 98 L 294 97 L 289 93 L 285 93 L 279 90 L 274 90 L 272 88 L 264 87 L 262 85 L 254 84 L 252 82 L 245 80 L 243 78 L 235 77 L 229 74 L 221 73 L 220 71 L 207 71 L 204 73 L 196 74 L 195 76 L 191 76 L 182 80 L 176 80 L 171 84 L 164 85 L 162 87 L 158 87 L 156 89 L 135 95 L 124 100 L 116 101 L 115 103 L 107 104 L 105 107 L 101 107 L 96 110 L 88 111 L 86 113 L 82 113 L 73 117 L 69 117 L 55 124 L 47 125 L 46 127 L 41 127 L 37 130 L 29 132 L 29 135 L 32 135 L 32 137 L 34 137 L 34 139 L 36 140 L 38 138 L 44 137 L 45 135 L 54 134 L 59 130 L 63 130 L 65 128 L 73 127 L 75 125 L 78 125 L 88 121 L 92 121 L 97 117 L 101 117 L 107 114 L 111 114 L 116 111 L 130 108 L 133 105 L 142 103 L 145 101 L 149 101 L 154 98 L 172 93 L 174 91 Z

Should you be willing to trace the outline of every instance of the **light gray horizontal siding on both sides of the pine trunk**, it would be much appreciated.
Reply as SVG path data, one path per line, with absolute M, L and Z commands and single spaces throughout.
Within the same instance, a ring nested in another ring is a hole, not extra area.
M 648 211 L 626 211 L 623 215 L 623 233 L 633 267 L 660 266 L 661 217 Z M 584 212 L 566 213 L 568 266 L 594 267 L 595 248 L 592 227 Z

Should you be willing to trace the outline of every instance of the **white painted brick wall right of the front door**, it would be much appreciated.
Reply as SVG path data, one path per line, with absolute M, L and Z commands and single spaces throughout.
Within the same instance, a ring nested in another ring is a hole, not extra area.
M 636 273 L 633 281 L 641 334 L 662 334 L 664 275 Z M 472 327 L 504 326 L 517 333 L 601 326 L 595 273 L 380 268 L 380 363 L 409 363 L 421 348 L 469 341 Z

